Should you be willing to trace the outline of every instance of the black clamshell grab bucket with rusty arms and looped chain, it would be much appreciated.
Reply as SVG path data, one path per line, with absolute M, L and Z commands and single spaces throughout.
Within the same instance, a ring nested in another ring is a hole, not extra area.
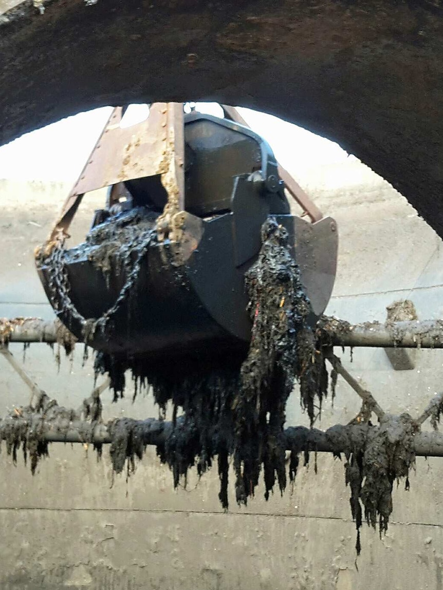
M 291 215 L 268 144 L 233 120 L 184 119 L 181 104 L 154 104 L 145 122 L 126 129 L 121 118 L 114 109 L 37 253 L 47 295 L 74 335 L 87 329 L 93 348 L 117 356 L 245 349 L 244 277 L 268 217 L 288 231 L 315 322 L 333 289 L 337 228 L 331 218 L 311 224 Z M 86 242 L 64 249 L 84 193 L 104 186 L 108 202 Z M 106 273 L 97 263 L 104 251 Z

